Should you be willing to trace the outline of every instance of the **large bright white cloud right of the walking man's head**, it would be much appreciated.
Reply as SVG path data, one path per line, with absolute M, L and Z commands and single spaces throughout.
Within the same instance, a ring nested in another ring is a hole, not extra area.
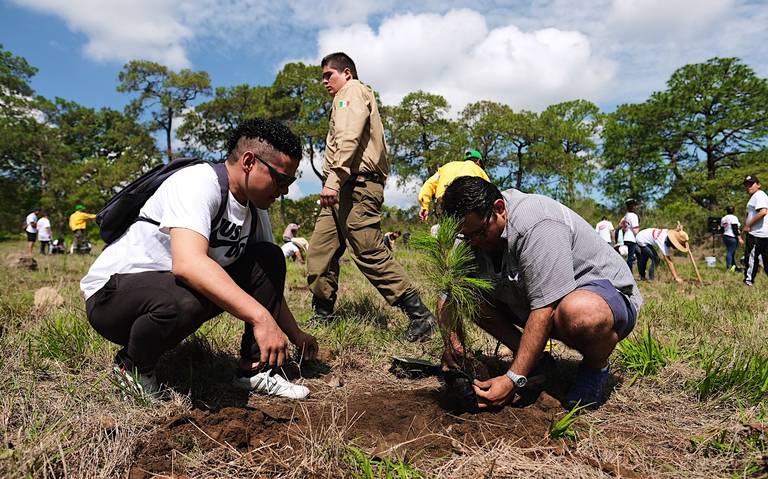
M 395 15 L 378 31 L 365 24 L 327 29 L 318 36 L 318 50 L 319 56 L 349 53 L 386 104 L 423 89 L 445 96 L 454 109 L 480 99 L 516 109 L 572 98 L 599 101 L 616 70 L 582 33 L 489 29 L 483 15 L 466 9 Z

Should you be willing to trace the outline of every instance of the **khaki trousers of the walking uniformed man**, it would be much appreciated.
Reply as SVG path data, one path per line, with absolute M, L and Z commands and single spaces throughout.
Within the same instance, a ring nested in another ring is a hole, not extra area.
M 339 260 L 347 246 L 360 272 L 394 304 L 411 289 L 405 271 L 384 246 L 381 205 L 384 186 L 370 181 L 347 181 L 339 191 L 339 202 L 324 207 L 309 243 L 307 282 L 319 299 L 336 301 L 339 289 Z M 334 221 L 334 212 L 338 225 Z

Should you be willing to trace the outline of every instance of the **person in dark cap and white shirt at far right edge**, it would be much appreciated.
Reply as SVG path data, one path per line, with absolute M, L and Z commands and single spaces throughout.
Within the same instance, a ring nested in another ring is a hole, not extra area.
M 744 284 L 752 286 L 760 268 L 760 258 L 763 260 L 763 270 L 768 266 L 768 195 L 760 189 L 760 180 L 755 175 L 744 178 L 744 188 L 751 196 L 747 202 L 747 217 L 744 220 L 744 232 L 747 233 L 744 257 L 747 260 L 744 269 Z

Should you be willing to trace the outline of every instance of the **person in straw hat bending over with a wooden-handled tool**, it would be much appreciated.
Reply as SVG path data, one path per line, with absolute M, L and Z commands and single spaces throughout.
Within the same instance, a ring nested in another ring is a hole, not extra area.
M 675 281 L 682 283 L 683 279 L 677 274 L 675 264 L 672 262 L 672 251 L 670 248 L 687 253 L 688 252 L 688 233 L 683 231 L 683 225 L 677 224 L 677 228 L 670 230 L 666 228 L 646 228 L 641 230 L 635 236 L 637 242 L 637 271 L 640 273 L 640 279 L 653 280 L 656 278 L 656 266 L 659 265 L 659 255 L 656 253 L 654 245 L 661 251 L 662 258 L 667 264 L 669 271 Z M 646 278 L 645 272 L 648 266 L 648 260 L 651 261 L 651 269 Z

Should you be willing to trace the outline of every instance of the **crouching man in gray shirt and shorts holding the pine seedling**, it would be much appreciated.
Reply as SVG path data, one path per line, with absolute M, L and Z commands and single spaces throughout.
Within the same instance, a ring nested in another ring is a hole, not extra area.
M 608 357 L 632 331 L 643 302 L 626 262 L 583 218 L 545 196 L 502 193 L 481 178 L 461 177 L 443 207 L 462 222 L 479 276 L 494 283 L 477 324 L 515 351 L 506 375 L 475 381 L 480 406 L 502 405 L 525 387 L 549 338 L 583 356 L 564 406 L 599 405 Z M 451 334 L 444 365 L 455 366 L 457 353 Z

